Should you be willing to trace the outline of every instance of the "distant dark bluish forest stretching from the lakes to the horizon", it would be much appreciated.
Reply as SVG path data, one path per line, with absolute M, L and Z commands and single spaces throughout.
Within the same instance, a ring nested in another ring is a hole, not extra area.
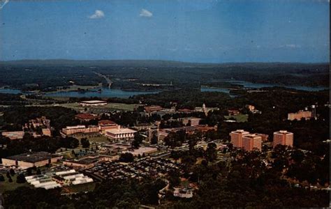
M 173 61 L 4 61 L 0 86 L 23 90 L 54 91 L 56 86 L 105 84 L 113 88 L 151 90 L 200 88 L 222 80 L 299 86 L 328 86 L 327 63 L 182 63 Z M 163 84 L 165 86 L 142 86 Z M 172 86 L 169 86 L 172 84 Z

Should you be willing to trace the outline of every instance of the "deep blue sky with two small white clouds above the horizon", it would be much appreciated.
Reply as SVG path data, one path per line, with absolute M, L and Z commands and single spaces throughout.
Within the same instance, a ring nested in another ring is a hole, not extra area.
M 0 60 L 329 62 L 328 0 L 10 1 Z

